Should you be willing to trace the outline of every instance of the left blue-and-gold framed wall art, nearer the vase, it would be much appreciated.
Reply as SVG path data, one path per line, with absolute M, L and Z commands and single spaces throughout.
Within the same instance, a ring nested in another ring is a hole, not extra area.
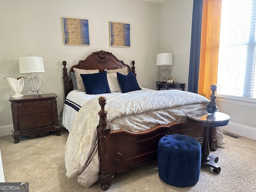
M 90 45 L 87 19 L 62 17 L 65 45 Z

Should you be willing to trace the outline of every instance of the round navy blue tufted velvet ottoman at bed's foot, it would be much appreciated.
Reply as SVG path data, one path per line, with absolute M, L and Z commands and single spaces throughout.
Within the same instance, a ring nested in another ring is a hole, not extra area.
M 198 182 L 201 145 L 187 135 L 166 135 L 158 142 L 158 174 L 167 184 L 189 187 Z

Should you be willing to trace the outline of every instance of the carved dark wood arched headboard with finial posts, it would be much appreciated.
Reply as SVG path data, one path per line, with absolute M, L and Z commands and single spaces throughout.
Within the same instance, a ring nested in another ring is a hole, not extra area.
M 72 84 L 72 79 L 69 78 L 67 68 L 66 68 L 66 61 L 62 62 L 63 64 L 63 81 L 64 81 L 64 92 L 65 92 L 65 98 L 68 95 L 70 91 L 73 90 L 73 84 Z M 78 64 L 73 65 L 70 68 L 70 72 L 74 72 L 73 68 L 78 68 L 78 69 L 98 69 L 100 72 L 104 71 L 104 69 L 120 69 L 123 67 L 128 67 L 128 72 L 132 71 L 134 75 L 136 76 L 135 73 L 135 67 L 134 67 L 135 62 L 132 61 L 132 68 L 125 64 L 122 60 L 119 60 L 110 52 L 106 51 L 96 51 L 92 52 L 90 55 L 86 57 L 84 60 L 80 60 Z M 69 72 L 69 75 L 70 75 Z

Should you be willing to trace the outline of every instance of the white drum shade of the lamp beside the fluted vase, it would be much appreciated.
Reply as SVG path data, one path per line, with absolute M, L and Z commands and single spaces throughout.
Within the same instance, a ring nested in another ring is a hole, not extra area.
M 20 57 L 20 73 L 44 73 L 44 62 L 42 57 Z

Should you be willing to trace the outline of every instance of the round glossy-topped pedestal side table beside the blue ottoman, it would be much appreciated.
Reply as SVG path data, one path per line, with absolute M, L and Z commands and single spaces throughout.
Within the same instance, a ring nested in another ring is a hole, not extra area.
M 210 166 L 213 168 L 213 172 L 219 173 L 220 166 L 216 164 L 218 162 L 218 156 L 210 154 L 209 148 L 209 129 L 218 126 L 225 126 L 229 123 L 230 116 L 221 112 L 215 112 L 214 115 L 208 115 L 206 110 L 196 110 L 186 113 L 186 117 L 189 122 L 204 126 L 204 141 L 202 144 L 202 160 L 201 166 Z

